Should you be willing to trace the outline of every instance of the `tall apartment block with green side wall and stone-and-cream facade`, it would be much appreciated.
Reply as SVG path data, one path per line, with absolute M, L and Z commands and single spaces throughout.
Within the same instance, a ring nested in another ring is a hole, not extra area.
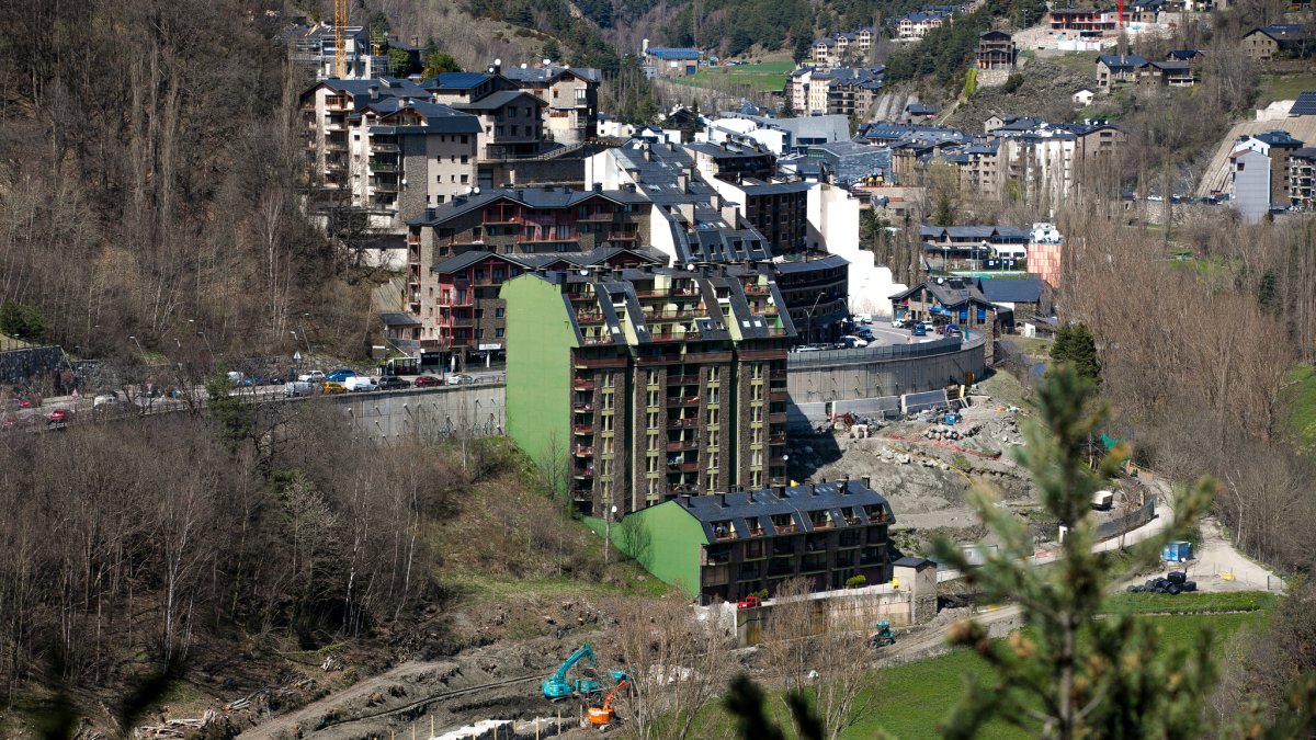
M 503 286 L 508 432 L 570 460 L 582 514 L 786 485 L 795 330 L 765 267 L 522 274 Z

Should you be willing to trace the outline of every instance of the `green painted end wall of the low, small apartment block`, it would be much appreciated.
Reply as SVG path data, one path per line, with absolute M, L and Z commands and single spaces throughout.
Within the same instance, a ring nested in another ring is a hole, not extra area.
M 601 524 L 590 528 L 601 532 Z M 699 553 L 708 540 L 699 520 L 676 502 L 628 514 L 612 525 L 612 541 L 659 581 L 680 586 L 690 598 L 699 595 Z

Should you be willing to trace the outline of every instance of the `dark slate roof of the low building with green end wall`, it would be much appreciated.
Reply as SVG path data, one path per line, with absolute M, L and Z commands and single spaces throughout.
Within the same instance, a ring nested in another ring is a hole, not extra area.
M 862 481 L 853 479 L 759 491 L 679 496 L 674 503 L 703 525 L 708 544 L 719 541 L 713 525 L 721 521 L 729 523 L 732 533 L 738 539 L 750 536 L 749 519 L 758 519 L 765 536 L 776 536 L 772 516 L 790 516 L 797 532 L 813 532 L 809 514 L 824 511 L 832 514 L 834 528 L 851 527 L 842 517 L 842 508 L 853 508 L 851 514 L 859 520 L 857 527 L 863 527 L 871 523 L 863 512 L 866 506 L 882 507 L 883 521 L 888 524 L 895 521 L 887 499 L 865 486 Z

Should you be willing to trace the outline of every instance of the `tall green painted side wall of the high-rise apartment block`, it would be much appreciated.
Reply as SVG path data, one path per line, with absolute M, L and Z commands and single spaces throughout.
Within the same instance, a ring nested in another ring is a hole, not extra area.
M 536 463 L 571 454 L 575 332 L 558 286 L 538 275 L 503 283 L 507 302 L 507 431 Z M 563 481 L 563 486 L 566 482 Z

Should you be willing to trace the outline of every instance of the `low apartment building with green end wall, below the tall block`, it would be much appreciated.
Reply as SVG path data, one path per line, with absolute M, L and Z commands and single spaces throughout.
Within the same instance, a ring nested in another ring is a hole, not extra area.
M 895 516 L 870 486 L 865 478 L 678 496 L 626 515 L 617 541 L 701 604 L 772 595 L 788 578 L 811 591 L 845 589 L 857 575 L 887 583 Z

